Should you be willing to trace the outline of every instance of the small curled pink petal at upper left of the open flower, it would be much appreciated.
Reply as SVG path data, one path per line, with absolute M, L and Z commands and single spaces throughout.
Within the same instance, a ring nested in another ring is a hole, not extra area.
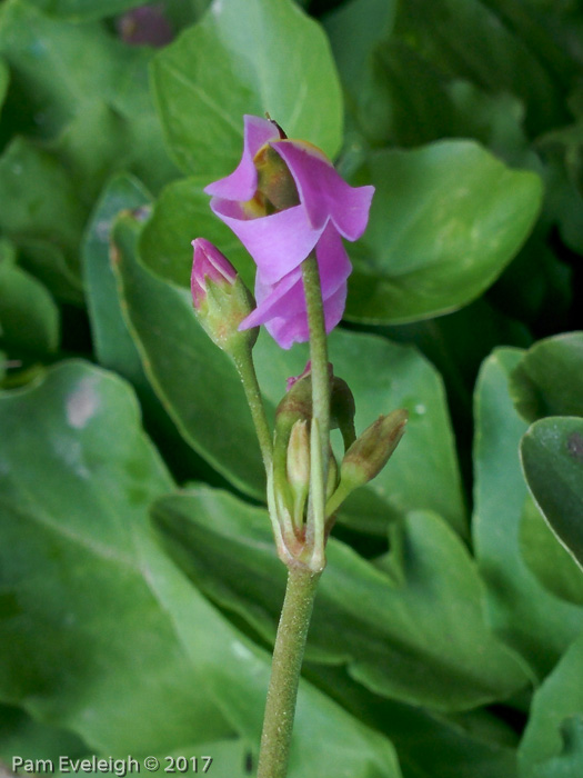
M 275 124 L 268 119 L 245 116 L 243 156 L 230 176 L 210 183 L 204 191 L 227 200 L 251 200 L 258 188 L 258 173 L 253 158 L 259 149 L 270 140 L 279 139 Z

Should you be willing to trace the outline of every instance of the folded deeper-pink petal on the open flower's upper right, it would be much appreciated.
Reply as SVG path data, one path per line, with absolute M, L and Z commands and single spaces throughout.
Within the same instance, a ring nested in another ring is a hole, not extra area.
M 310 143 L 279 140 L 271 146 L 288 164 L 312 227 L 322 229 L 331 218 L 346 240 L 360 238 L 369 221 L 374 187 L 348 184 Z

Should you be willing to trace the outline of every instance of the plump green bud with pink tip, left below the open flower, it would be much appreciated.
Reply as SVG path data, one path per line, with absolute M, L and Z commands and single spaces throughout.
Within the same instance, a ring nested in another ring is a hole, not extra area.
M 252 348 L 259 328 L 239 331 L 254 308 L 254 300 L 227 257 L 204 238 L 192 241 L 191 291 L 197 317 L 211 340 L 228 353 Z

